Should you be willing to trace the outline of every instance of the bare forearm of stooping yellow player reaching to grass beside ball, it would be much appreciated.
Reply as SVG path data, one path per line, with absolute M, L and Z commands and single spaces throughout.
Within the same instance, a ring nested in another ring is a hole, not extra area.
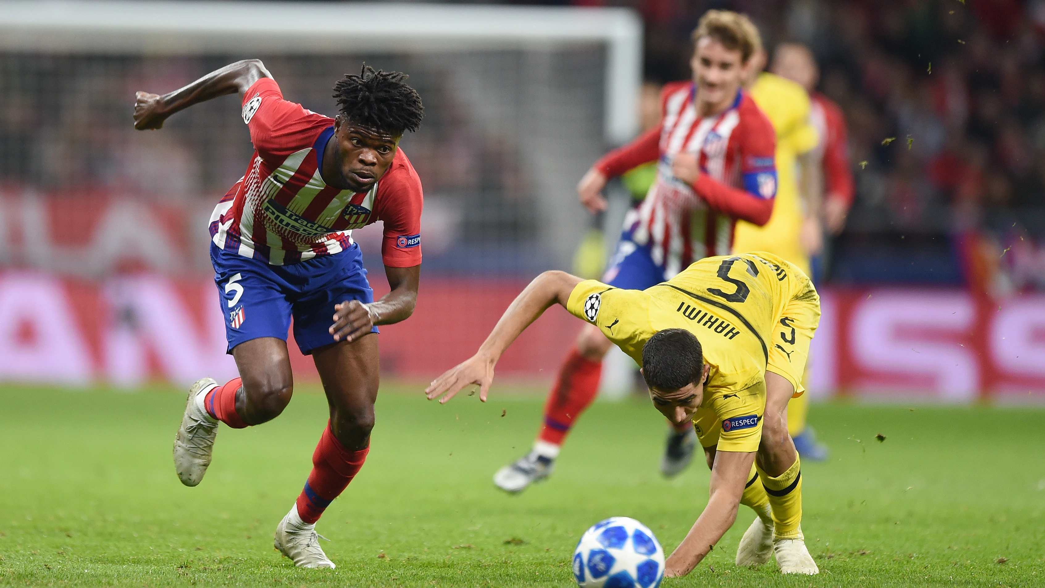
M 686 539 L 665 562 L 665 575 L 677 578 L 693 571 L 733 526 L 753 460 L 753 452 L 716 452 L 715 465 L 712 467 L 711 499 Z

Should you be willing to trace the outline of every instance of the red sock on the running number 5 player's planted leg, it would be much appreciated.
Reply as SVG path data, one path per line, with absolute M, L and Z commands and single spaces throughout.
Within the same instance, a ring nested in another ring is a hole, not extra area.
M 348 482 L 367 460 L 370 448 L 351 451 L 341 445 L 330 430 L 330 424 L 323 430 L 320 444 L 312 453 L 312 473 L 308 474 L 305 489 L 298 496 L 298 515 L 301 520 L 312 524 L 320 520 L 330 502 L 345 492 Z

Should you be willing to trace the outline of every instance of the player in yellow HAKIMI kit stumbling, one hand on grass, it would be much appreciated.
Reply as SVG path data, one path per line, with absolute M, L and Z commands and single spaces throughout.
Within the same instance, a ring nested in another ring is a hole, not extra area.
M 669 281 L 622 290 L 565 272 L 544 272 L 505 311 L 467 361 L 425 390 L 450 400 L 479 384 L 486 401 L 493 367 L 509 344 L 553 303 L 586 320 L 643 366 L 654 406 L 674 424 L 692 420 L 712 467 L 711 498 L 667 562 L 689 573 L 737 518 L 759 513 L 737 550 L 738 565 L 771 555 L 783 573 L 817 573 L 802 534 L 802 474 L 785 408 L 819 322 L 810 278 L 769 253 L 706 257 Z

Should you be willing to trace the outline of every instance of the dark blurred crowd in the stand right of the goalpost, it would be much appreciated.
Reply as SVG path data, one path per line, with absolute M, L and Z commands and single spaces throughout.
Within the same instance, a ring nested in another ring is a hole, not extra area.
M 831 281 L 1045 289 L 1045 2 L 623 4 L 643 15 L 654 82 L 688 75 L 689 33 L 709 8 L 750 15 L 770 52 L 813 50 L 818 89 L 846 115 L 857 182 Z

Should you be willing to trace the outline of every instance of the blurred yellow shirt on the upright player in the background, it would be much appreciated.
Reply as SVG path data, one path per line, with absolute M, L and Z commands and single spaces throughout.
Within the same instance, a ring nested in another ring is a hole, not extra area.
M 765 225 L 737 222 L 733 250 L 775 253 L 808 274 L 809 255 L 798 241 L 805 212 L 798 196 L 797 157 L 819 141 L 809 119 L 809 95 L 798 84 L 767 72 L 759 75 L 750 94 L 776 131 L 776 202 Z

